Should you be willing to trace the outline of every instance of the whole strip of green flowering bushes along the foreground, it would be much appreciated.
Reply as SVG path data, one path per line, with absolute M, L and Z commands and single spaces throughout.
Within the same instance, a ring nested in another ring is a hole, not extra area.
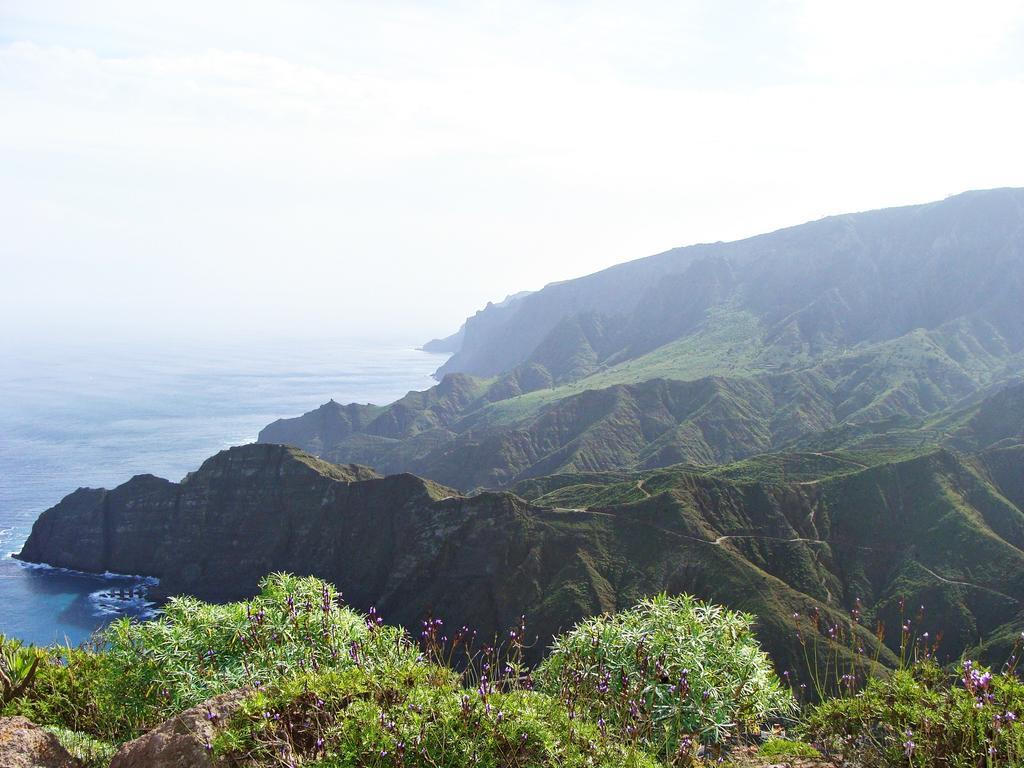
M 209 744 L 239 766 L 1024 761 L 1020 644 L 992 672 L 969 659 L 943 669 L 934 646 L 908 642 L 900 669 L 860 690 L 834 686 L 798 712 L 752 623 L 658 596 L 581 623 L 529 669 L 522 626 L 487 644 L 427 618 L 414 640 L 373 611 L 344 607 L 324 582 L 273 574 L 252 600 L 174 600 L 159 620 L 117 622 L 89 647 L 2 641 L 2 714 L 47 727 L 88 768 L 104 768 L 118 744 L 168 717 L 240 688 L 245 701 Z M 753 758 L 733 750 L 770 726 Z

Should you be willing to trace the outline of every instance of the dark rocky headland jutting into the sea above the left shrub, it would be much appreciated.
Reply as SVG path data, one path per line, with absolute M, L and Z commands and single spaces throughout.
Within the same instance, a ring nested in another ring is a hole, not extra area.
M 380 478 L 283 445 L 223 451 L 181 482 L 138 475 L 79 488 L 47 510 L 17 555 L 89 572 L 157 577 L 159 593 L 228 600 L 273 570 L 362 575 L 376 552 L 362 521 L 415 515 L 454 492 L 412 475 Z

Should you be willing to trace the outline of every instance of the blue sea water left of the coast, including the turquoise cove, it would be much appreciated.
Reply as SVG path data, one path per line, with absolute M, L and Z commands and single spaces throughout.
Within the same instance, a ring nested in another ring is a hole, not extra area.
M 78 644 L 114 616 L 150 610 L 119 594 L 139 579 L 9 557 L 75 488 L 142 472 L 178 480 L 331 397 L 384 403 L 428 387 L 441 361 L 412 344 L 353 341 L 0 348 L 0 634 Z

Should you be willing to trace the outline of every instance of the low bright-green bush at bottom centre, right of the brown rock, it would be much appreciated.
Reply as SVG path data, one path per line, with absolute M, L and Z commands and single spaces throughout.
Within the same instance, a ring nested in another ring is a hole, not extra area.
M 253 693 L 214 742 L 236 765 L 655 768 L 528 690 L 464 688 L 424 663 L 306 672 Z

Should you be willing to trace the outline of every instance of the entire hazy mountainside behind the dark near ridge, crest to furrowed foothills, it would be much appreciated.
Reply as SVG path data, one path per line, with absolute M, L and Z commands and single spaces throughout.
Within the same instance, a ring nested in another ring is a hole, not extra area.
M 328 403 L 259 439 L 462 488 L 939 444 L 1024 375 L 1022 295 L 1024 189 L 837 216 L 488 306 L 441 371 L 494 378 L 447 373 L 381 410 Z

